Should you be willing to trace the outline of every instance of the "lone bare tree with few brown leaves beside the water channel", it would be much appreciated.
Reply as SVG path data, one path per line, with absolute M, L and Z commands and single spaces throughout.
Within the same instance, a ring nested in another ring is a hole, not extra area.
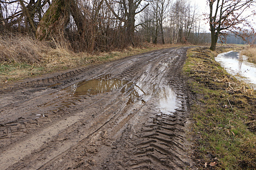
M 253 0 L 207 0 L 207 3 L 210 10 L 208 15 L 211 32 L 210 50 L 215 51 L 218 37 L 225 34 L 224 30 L 239 35 L 239 31 L 243 31 L 242 27 L 251 28 L 248 17 L 255 15 L 255 12 L 245 14 L 245 11 L 253 6 Z

